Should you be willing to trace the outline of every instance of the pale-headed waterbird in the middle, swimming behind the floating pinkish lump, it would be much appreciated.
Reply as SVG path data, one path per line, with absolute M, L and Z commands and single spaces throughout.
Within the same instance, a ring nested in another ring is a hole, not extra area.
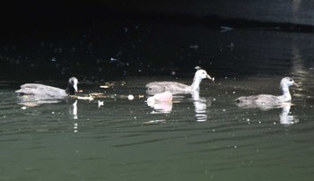
M 170 91 L 172 94 L 192 93 L 193 91 L 199 91 L 199 84 L 203 79 L 214 81 L 214 78 L 206 73 L 204 69 L 198 69 L 191 85 L 179 82 L 149 82 L 146 84 L 146 92 L 151 94 L 164 91 Z

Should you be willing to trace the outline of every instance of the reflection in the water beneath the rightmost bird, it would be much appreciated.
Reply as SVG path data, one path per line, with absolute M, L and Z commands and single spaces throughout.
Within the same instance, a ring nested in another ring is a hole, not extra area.
M 282 112 L 279 114 L 279 123 L 282 125 L 293 125 L 299 123 L 299 119 L 296 116 L 290 115 L 291 102 L 285 102 L 279 105 L 267 105 L 267 104 L 236 104 L 240 108 L 259 108 L 261 110 L 269 110 L 272 108 L 282 108 Z

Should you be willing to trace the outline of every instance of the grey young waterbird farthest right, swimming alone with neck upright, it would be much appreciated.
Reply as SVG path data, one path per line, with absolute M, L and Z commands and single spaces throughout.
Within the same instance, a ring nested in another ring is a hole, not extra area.
M 299 87 L 299 85 L 293 81 L 290 77 L 283 77 L 280 82 L 280 88 L 283 91 L 283 95 L 274 96 L 269 94 L 259 94 L 253 96 L 242 96 L 236 99 L 236 103 L 239 107 L 249 108 L 271 108 L 280 106 L 285 102 L 291 102 L 292 96 L 289 91 L 290 86 Z

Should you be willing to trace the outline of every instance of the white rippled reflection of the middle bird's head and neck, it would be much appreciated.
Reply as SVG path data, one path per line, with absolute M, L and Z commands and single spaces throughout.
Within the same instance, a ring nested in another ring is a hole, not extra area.
M 196 121 L 204 122 L 207 121 L 206 108 L 207 99 L 199 97 L 199 91 L 192 92 L 192 99 L 195 111 L 196 111 Z

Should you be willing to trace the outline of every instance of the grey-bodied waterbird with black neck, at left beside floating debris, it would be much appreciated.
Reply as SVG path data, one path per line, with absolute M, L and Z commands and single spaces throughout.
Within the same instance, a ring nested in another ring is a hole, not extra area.
M 40 83 L 25 83 L 21 85 L 20 90 L 15 90 L 20 96 L 31 96 L 35 99 L 63 99 L 69 95 L 74 95 L 77 91 L 77 79 L 71 77 L 67 82 L 65 90 L 44 85 Z

